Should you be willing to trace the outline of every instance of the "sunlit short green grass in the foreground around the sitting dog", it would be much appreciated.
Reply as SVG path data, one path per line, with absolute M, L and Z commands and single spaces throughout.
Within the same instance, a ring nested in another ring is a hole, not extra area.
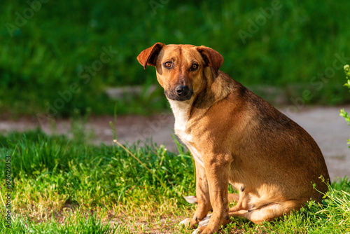
M 0 136 L 0 233 L 190 233 L 178 225 L 195 205 L 193 161 L 165 146 L 93 146 L 41 131 Z M 5 163 L 11 157 L 12 230 L 6 228 Z M 165 186 L 157 179 L 164 182 Z M 220 233 L 346 233 L 350 181 L 332 183 L 323 205 L 261 226 L 235 219 Z

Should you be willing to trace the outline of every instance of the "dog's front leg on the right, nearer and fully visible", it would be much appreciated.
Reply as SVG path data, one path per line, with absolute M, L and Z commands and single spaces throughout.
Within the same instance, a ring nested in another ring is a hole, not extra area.
M 198 228 L 197 233 L 215 233 L 224 220 L 230 219 L 228 216 L 228 176 L 231 162 L 230 155 L 218 154 L 204 158 L 213 214 L 211 214 L 208 226 Z

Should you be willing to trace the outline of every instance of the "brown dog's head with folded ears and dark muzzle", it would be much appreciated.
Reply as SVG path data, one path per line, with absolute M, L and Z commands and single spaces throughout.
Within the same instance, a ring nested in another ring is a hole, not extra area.
M 223 56 L 209 47 L 159 42 L 142 51 L 137 60 L 144 69 L 147 65 L 156 67 L 165 95 L 176 101 L 186 101 L 199 92 L 205 71 L 216 77 L 223 64 Z

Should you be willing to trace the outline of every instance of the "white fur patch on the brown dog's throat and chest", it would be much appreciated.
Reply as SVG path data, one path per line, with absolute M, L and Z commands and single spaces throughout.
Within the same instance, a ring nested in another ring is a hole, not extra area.
M 176 135 L 179 136 L 183 144 L 186 144 L 188 149 L 195 158 L 197 163 L 200 163 L 204 167 L 203 159 L 197 149 L 193 147 L 190 142 L 193 142 L 193 136 L 186 131 L 186 125 L 188 123 L 188 111 L 190 111 L 190 103 L 188 102 L 179 102 L 172 99 L 168 99 L 170 106 L 172 106 L 172 111 L 175 116 L 175 126 L 174 130 Z

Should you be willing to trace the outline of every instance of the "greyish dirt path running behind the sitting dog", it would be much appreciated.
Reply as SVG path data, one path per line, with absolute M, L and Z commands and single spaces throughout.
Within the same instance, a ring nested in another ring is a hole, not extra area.
M 325 156 L 332 179 L 346 175 L 350 176 L 350 149 L 346 145 L 346 139 L 350 137 L 350 128 L 344 118 L 339 116 L 339 109 L 341 108 L 308 106 L 297 113 L 289 113 L 288 108 L 281 109 L 314 137 Z M 350 106 L 345 106 L 345 110 L 350 112 Z M 113 117 L 104 116 L 92 118 L 87 123 L 86 132 L 93 132 L 94 134 L 92 142 L 113 144 L 110 121 L 113 121 Z M 151 117 L 118 116 L 116 131 L 118 141 L 121 143 L 133 143 L 139 140 L 145 142 L 152 136 L 153 142 L 158 145 L 164 144 L 169 151 L 176 151 L 176 145 L 174 139 L 172 139 L 173 125 L 174 117 L 169 113 Z M 40 127 L 40 125 L 35 118 L 0 121 L 0 132 L 23 131 L 37 127 Z M 44 124 L 41 128 L 49 134 L 52 133 L 52 126 L 49 123 Z M 57 121 L 56 129 L 58 133 L 71 135 L 68 120 Z

